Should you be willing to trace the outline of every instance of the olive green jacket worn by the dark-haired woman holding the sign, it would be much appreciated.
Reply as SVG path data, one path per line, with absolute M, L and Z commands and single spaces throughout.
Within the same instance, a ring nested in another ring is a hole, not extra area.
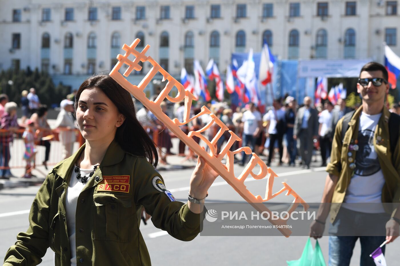
M 4 265 L 37 265 L 49 246 L 57 266 L 70 265 L 66 189 L 84 147 L 48 174 L 33 201 L 28 231 L 18 234 Z M 139 230 L 142 206 L 154 226 L 174 238 L 189 241 L 201 230 L 204 212 L 195 214 L 187 204 L 174 201 L 146 158 L 125 152 L 114 139 L 78 197 L 76 264 L 151 265 Z

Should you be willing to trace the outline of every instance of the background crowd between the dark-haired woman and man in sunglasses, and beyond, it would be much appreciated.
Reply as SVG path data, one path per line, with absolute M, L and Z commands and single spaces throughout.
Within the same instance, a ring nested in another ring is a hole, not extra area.
M 163 102 L 161 105 L 164 113 L 170 118 L 177 117 L 179 121 L 183 121 L 185 110 L 183 102 L 170 106 Z M 229 130 L 242 139 L 240 143 L 235 143 L 231 150 L 249 146 L 256 154 L 268 157 L 266 159 L 268 166 L 275 160 L 280 166 L 296 166 L 297 162 L 297 165 L 306 169 L 310 168 L 313 158 L 314 161 L 319 161 L 316 151 L 320 151 L 320 166 L 326 166 L 332 149 L 336 124 L 346 113 L 358 108 L 358 106 L 346 106 L 345 99 L 338 99 L 335 105 L 328 100 L 313 105 L 310 97 L 305 97 L 303 103 L 298 105 L 296 99 L 289 95 L 275 99 L 264 114 L 254 103 L 248 103 L 243 108 L 237 107 L 235 111 L 230 109 L 228 103 L 208 103 L 207 107 L 225 123 Z M 399 114 L 400 105 L 394 104 L 390 111 Z M 200 105 L 192 107 L 190 112 L 191 116 L 200 113 Z M 174 155 L 171 152 L 171 139 L 174 134 L 168 131 L 168 128 L 144 106 L 138 108 L 137 117 L 149 135 L 157 133 L 157 140 L 154 141 L 160 148 L 160 163 L 168 164 L 167 156 Z M 210 119 L 209 115 L 200 116 L 188 125 L 181 126 L 181 129 L 185 133 L 197 131 L 207 125 Z M 220 127 L 215 125 L 204 132 L 209 141 L 216 136 L 219 129 Z M 228 131 L 222 135 L 217 143 L 218 152 L 229 137 Z M 197 142 L 200 141 L 197 137 L 195 139 Z M 178 155 L 196 159 L 190 149 L 186 152 L 185 149 L 188 148 L 180 141 Z M 244 165 L 248 159 L 250 158 L 246 158 L 243 152 L 235 162 Z

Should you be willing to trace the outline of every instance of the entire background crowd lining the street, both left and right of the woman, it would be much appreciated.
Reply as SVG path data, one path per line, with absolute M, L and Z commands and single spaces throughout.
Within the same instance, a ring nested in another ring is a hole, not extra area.
M 14 135 L 18 130 L 25 129 L 21 135 L 24 139 L 26 151 L 24 159 L 26 160 L 26 174 L 24 177 L 31 177 L 31 167 L 35 165 L 36 145 L 45 147 L 45 156 L 42 164 L 47 169 L 47 162 L 50 154 L 50 139 L 46 138 L 52 134 L 53 129 L 59 129 L 58 138 L 62 143 L 62 158 L 68 158 L 73 153 L 74 142 L 76 141 L 76 122 L 72 115 L 74 112 L 74 97 L 76 91 L 66 96 L 66 99 L 60 103 L 60 113 L 56 122 L 50 127 L 47 121 L 48 108 L 40 104 L 40 100 L 34 88 L 30 91 L 22 91 L 20 107 L 22 117 L 17 122 L 18 105 L 14 102 L 8 102 L 5 94 L 0 95 L 0 117 L 1 129 L 0 135 L 0 178 L 7 179 L 12 177 L 9 168 L 10 161 L 10 143 L 14 140 Z M 177 117 L 183 121 L 184 103 L 168 105 L 166 102 L 161 104 L 162 110 L 170 118 Z M 316 160 L 316 151 L 320 151 L 321 166 L 326 166 L 327 159 L 332 149 L 332 138 L 334 129 L 339 119 L 346 113 L 354 110 L 346 106 L 344 99 L 338 99 L 336 105 L 326 100 L 316 105 L 312 104 L 310 97 L 305 97 L 303 103 L 298 105 L 296 99 L 285 95 L 280 99 L 274 99 L 272 106 L 269 106 L 264 114 L 260 112 L 254 103 L 248 103 L 243 108 L 236 107 L 235 111 L 230 109 L 228 103 L 208 103 L 207 107 L 216 117 L 238 135 L 242 141 L 235 143 L 231 150 L 240 147 L 249 146 L 252 151 L 258 155 L 265 155 L 268 166 L 277 161 L 279 166 L 298 165 L 309 169 L 312 157 Z M 200 113 L 200 105 L 192 108 L 191 115 Z M 390 111 L 400 114 L 399 103 L 394 104 Z M 159 158 L 161 164 L 168 164 L 167 156 L 174 155 L 171 152 L 172 138 L 175 137 L 161 121 L 157 119 L 146 107 L 138 108 L 136 113 L 138 121 L 152 137 L 154 133 L 157 139 L 154 139 L 158 146 Z M 209 115 L 203 115 L 192 120 L 188 125 L 181 126 L 182 131 L 189 133 L 197 131 L 210 122 Z M 219 130 L 215 125 L 205 131 L 208 140 L 212 140 Z M 228 131 L 222 135 L 217 143 L 217 151 L 228 141 L 230 134 Z M 200 138 L 194 137 L 199 143 Z M 188 149 L 180 141 L 178 155 L 184 156 L 190 160 L 196 160 L 193 151 Z M 276 158 L 274 158 L 276 156 Z M 250 158 L 242 156 L 235 160 L 235 163 L 244 165 Z

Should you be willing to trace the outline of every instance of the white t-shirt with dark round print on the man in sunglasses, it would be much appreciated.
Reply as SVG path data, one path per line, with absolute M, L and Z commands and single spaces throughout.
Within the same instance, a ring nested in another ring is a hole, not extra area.
M 381 199 L 385 179 L 374 148 L 374 133 L 381 115 L 367 115 L 364 112 L 360 115 L 356 168 L 344 197 L 344 202 L 374 204 L 344 204 L 344 208 L 368 213 L 385 212 Z

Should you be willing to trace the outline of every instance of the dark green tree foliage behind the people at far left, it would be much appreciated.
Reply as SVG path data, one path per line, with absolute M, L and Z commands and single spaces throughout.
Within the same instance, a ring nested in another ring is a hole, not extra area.
M 8 81 L 12 80 L 12 85 Z M 12 69 L 0 72 L 0 92 L 6 93 L 10 101 L 21 102 L 21 92 L 36 89 L 40 103 L 51 107 L 53 104 L 60 104 L 62 99 L 70 93 L 68 86 L 57 86 L 53 83 L 51 76 L 46 72 L 40 72 L 37 68 L 32 71 L 29 67 L 25 70 L 14 71 Z

